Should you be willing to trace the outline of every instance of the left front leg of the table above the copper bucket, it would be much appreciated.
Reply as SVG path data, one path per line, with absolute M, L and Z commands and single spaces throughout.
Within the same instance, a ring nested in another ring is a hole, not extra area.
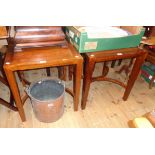
M 24 121 L 26 121 L 26 118 L 25 118 L 25 113 L 24 113 L 24 109 L 23 109 L 21 98 L 20 98 L 19 89 L 18 89 L 18 86 L 16 83 L 16 78 L 15 78 L 14 72 L 11 70 L 8 70 L 7 68 L 4 68 L 4 70 L 5 70 L 6 77 L 8 79 L 8 83 L 10 85 L 10 89 L 13 93 L 14 100 L 16 102 L 16 106 L 18 108 L 19 115 L 20 115 L 22 121 L 24 122 Z

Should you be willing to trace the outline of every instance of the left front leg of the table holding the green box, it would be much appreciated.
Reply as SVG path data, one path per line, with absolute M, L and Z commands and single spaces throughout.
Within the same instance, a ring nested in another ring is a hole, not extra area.
M 81 108 L 86 108 L 86 102 L 88 97 L 88 92 L 90 88 L 90 84 L 92 82 L 92 74 L 95 67 L 95 60 L 94 58 L 86 57 L 85 64 L 84 64 L 84 77 L 83 77 L 83 88 L 82 88 L 82 101 L 81 101 Z

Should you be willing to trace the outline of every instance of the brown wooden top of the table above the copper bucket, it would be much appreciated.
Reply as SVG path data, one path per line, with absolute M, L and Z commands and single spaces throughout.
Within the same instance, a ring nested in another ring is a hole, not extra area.
M 68 48 L 61 47 L 44 47 L 44 48 L 31 48 L 22 49 L 20 52 L 8 52 L 4 67 L 9 65 L 12 70 L 25 70 L 35 69 L 42 67 L 49 67 L 59 65 L 75 64 L 77 59 L 82 59 L 80 53 L 78 53 L 72 45 L 68 45 Z M 63 60 L 63 62 L 62 62 Z

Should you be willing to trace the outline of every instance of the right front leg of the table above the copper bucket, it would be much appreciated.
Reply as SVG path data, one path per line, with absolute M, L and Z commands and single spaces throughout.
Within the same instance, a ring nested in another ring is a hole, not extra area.
M 79 61 L 74 67 L 73 74 L 73 92 L 74 92 L 74 111 L 78 111 L 80 88 L 81 88 L 81 77 L 82 77 L 82 64 L 83 61 Z

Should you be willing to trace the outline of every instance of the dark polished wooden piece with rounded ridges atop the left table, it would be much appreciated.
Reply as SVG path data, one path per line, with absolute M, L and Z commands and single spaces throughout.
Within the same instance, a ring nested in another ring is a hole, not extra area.
M 67 47 L 65 34 L 60 26 L 16 26 L 14 44 L 20 48 L 63 46 Z

